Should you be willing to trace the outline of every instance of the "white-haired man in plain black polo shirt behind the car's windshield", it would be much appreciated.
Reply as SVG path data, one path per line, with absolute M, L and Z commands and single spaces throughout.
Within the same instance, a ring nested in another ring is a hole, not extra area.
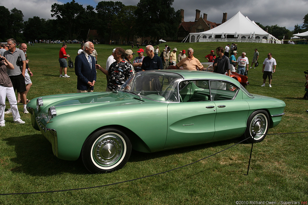
M 145 53 L 147 54 L 144 57 L 141 65 L 141 70 L 161 70 L 163 69 L 163 63 L 159 56 L 154 55 L 154 47 L 152 45 L 147 45 L 145 47 Z

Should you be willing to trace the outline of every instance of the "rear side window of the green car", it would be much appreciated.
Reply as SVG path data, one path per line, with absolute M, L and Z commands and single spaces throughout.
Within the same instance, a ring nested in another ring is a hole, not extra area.
M 237 94 L 238 88 L 232 83 L 222 81 L 210 81 L 212 101 L 232 100 Z

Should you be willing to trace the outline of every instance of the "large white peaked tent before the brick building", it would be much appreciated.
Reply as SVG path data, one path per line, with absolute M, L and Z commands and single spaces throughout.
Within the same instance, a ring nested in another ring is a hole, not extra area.
M 222 34 L 226 35 L 226 39 L 237 38 L 242 42 L 252 42 L 245 41 L 246 39 L 254 39 L 258 41 L 254 42 L 265 42 L 265 43 L 281 43 L 280 40 L 275 38 L 273 35 L 267 33 L 261 29 L 255 22 L 251 21 L 248 17 L 245 17 L 240 11 L 237 12 L 232 18 L 230 18 L 225 23 L 204 31 L 200 33 L 190 33 L 189 42 L 208 42 L 208 41 L 220 41 L 215 39 L 209 40 L 209 36 L 222 38 Z M 254 37 L 250 37 L 254 34 Z M 226 39 L 224 41 L 226 41 Z M 263 39 L 263 40 L 262 40 Z M 222 40 L 222 39 L 221 39 Z M 236 40 L 238 42 L 238 40 Z

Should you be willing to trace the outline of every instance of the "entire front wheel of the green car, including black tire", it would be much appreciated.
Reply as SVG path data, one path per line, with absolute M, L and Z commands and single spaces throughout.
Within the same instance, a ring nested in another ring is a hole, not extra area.
M 132 144 L 119 129 L 105 128 L 92 133 L 83 143 L 81 157 L 91 173 L 121 169 L 132 152 Z

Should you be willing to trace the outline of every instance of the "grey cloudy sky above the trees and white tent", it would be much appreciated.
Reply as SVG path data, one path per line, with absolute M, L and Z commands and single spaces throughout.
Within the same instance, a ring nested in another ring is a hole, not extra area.
M 100 0 L 75 0 L 84 7 L 91 5 L 95 7 Z M 24 20 L 39 16 L 40 18 L 51 18 L 51 5 L 54 3 L 63 4 L 66 0 L 0 0 L 0 6 L 5 6 L 9 10 L 16 7 L 21 10 Z M 122 0 L 124 5 L 137 5 L 139 0 Z M 184 9 L 184 21 L 194 21 L 196 9 L 201 10 L 201 14 L 208 14 L 208 20 L 221 23 L 222 14 L 227 14 L 227 20 L 238 11 L 244 16 L 248 16 L 251 21 L 259 22 L 263 26 L 286 26 L 293 30 L 294 25 L 302 26 L 303 18 L 308 13 L 308 0 L 175 0 L 173 2 L 175 10 Z M 243 25 L 245 26 L 245 25 Z

